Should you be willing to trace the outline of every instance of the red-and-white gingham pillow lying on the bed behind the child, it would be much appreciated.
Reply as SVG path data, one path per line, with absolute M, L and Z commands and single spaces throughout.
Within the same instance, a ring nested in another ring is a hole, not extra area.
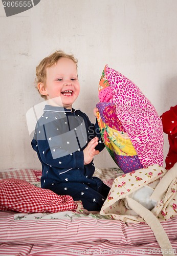
M 24 180 L 0 180 L 0 210 L 17 212 L 58 212 L 76 210 L 71 196 L 58 196 L 49 189 L 39 188 Z

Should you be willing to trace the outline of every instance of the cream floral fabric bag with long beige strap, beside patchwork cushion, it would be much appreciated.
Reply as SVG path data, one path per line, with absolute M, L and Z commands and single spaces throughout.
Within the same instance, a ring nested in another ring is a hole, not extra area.
M 146 222 L 152 229 L 162 249 L 172 249 L 170 241 L 160 224 L 177 215 L 177 164 L 170 170 L 152 165 L 117 177 L 104 202 L 100 214 L 109 215 L 124 222 Z M 130 198 L 131 194 L 143 186 L 154 189 L 150 199 L 156 200 L 156 206 L 150 211 Z M 127 200 L 127 209 L 124 203 Z M 169 250 L 169 254 L 174 255 Z M 166 252 L 166 251 L 165 251 Z

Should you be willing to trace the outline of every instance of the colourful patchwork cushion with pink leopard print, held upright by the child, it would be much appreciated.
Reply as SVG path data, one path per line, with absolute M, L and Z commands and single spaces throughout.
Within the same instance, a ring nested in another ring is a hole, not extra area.
M 106 65 L 99 82 L 99 99 L 100 133 L 123 172 L 152 164 L 163 166 L 162 122 L 140 89 Z

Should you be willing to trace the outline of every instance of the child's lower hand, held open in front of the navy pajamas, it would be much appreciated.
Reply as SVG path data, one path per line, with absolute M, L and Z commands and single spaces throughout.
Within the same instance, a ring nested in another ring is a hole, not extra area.
M 94 156 L 100 153 L 98 150 L 95 150 L 96 145 L 98 145 L 97 137 L 93 138 L 83 150 L 84 164 L 92 162 Z

